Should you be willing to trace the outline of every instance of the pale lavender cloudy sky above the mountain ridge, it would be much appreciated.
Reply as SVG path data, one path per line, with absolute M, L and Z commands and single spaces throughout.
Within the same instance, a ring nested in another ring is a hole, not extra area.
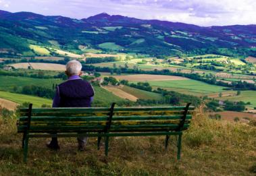
M 256 0 L 0 0 L 0 9 L 76 19 L 105 12 L 199 26 L 256 24 Z

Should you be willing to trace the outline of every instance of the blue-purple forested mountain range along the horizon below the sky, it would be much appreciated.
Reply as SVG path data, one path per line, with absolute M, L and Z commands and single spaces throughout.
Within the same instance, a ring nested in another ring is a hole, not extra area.
M 0 11 L 0 55 L 33 55 L 31 44 L 75 53 L 101 49 L 156 57 L 205 53 L 255 56 L 256 25 L 201 27 L 107 13 L 77 20 Z

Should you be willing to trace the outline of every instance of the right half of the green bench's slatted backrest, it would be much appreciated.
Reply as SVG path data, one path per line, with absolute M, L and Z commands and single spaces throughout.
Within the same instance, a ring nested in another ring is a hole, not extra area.
M 109 131 L 172 131 L 190 125 L 194 107 L 115 108 Z

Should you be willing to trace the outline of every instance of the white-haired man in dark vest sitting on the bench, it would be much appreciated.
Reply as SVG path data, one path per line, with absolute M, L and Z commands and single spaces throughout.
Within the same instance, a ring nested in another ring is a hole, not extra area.
M 66 64 L 68 80 L 59 84 L 53 99 L 53 107 L 91 107 L 94 90 L 90 83 L 80 78 L 82 65 L 79 61 L 72 60 Z M 77 138 L 78 150 L 84 150 L 87 137 Z M 59 149 L 57 138 L 52 138 L 47 147 L 53 150 Z

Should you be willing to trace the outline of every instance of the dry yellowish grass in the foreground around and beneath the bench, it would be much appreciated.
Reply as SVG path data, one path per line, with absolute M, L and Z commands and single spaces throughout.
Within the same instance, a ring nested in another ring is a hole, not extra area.
M 85 152 L 76 139 L 59 139 L 58 152 L 47 150 L 45 138 L 32 138 L 28 163 L 22 163 L 22 134 L 16 119 L 0 117 L 1 175 L 255 175 L 256 128 L 242 123 L 193 117 L 176 160 L 175 141 L 164 150 L 164 136 L 110 138 L 109 156 L 90 138 Z

